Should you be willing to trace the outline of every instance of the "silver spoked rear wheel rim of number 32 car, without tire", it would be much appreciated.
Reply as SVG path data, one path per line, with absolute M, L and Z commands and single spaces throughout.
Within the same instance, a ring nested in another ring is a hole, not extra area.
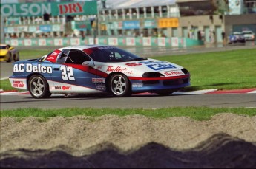
M 45 83 L 40 77 L 34 77 L 30 82 L 30 92 L 34 96 L 41 96 L 45 90 Z

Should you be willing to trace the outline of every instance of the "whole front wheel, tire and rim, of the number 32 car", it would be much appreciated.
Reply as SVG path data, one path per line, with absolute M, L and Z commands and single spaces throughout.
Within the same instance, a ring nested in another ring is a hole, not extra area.
M 111 75 L 108 86 L 111 94 L 114 94 L 115 97 L 131 96 L 131 83 L 125 75 Z

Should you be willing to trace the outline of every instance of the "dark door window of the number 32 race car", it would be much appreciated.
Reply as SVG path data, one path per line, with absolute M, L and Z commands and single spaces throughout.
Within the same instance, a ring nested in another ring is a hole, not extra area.
M 91 59 L 84 52 L 71 49 L 65 63 L 82 64 L 85 61 L 91 61 Z

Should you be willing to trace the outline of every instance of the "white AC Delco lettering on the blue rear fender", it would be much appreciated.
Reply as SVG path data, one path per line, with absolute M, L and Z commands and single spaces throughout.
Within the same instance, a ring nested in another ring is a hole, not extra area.
M 23 63 L 14 64 L 13 72 L 24 72 L 24 68 L 26 72 L 53 73 L 53 69 L 50 66 L 42 66 L 41 64 L 33 65 L 30 63 L 27 63 L 26 66 Z

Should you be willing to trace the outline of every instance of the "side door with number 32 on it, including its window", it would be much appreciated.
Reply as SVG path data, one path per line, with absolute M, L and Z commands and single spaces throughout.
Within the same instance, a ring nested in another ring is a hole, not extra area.
M 77 49 L 64 49 L 53 64 L 52 80 L 55 91 L 60 92 L 95 92 L 96 69 L 83 65 L 91 58 Z

